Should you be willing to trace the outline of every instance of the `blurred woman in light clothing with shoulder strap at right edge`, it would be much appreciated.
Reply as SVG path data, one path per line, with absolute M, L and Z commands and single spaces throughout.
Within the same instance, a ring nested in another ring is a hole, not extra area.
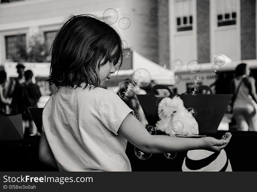
M 240 131 L 257 131 L 255 79 L 249 77 L 249 75 L 249 67 L 246 63 L 241 63 L 237 65 L 235 78 L 231 82 L 231 92 L 235 94 L 238 91 L 234 101 L 233 112 L 237 128 Z

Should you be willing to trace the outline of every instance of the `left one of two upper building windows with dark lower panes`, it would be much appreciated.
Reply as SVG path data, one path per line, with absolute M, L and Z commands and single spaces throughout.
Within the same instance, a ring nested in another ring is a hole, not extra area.
M 176 0 L 176 24 L 177 31 L 193 30 L 192 0 Z

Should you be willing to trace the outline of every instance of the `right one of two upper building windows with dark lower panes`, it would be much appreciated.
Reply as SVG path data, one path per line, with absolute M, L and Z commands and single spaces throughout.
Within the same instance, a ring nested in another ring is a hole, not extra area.
M 236 25 L 237 20 L 237 1 L 236 0 L 218 0 L 217 2 L 217 20 L 218 27 L 225 25 Z

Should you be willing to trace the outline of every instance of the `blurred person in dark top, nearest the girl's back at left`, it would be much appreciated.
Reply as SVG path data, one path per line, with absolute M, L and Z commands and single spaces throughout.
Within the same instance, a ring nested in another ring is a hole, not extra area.
M 25 83 L 22 84 L 22 108 L 24 113 L 22 113 L 22 119 L 28 123 L 29 135 L 39 134 L 37 127 L 35 126 L 32 117 L 29 114 L 29 107 L 36 107 L 39 98 L 41 97 L 41 92 L 39 86 L 32 82 L 33 72 L 27 70 L 24 73 Z

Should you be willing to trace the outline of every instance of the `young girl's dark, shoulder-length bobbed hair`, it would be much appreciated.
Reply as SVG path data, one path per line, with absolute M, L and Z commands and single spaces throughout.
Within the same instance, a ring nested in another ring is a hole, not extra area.
M 117 49 L 111 55 L 115 47 Z M 53 41 L 50 75 L 46 81 L 58 88 L 74 85 L 77 88 L 83 82 L 86 83 L 85 87 L 97 87 L 100 84 L 100 66 L 108 60 L 114 65 L 122 63 L 119 34 L 92 15 L 72 15 Z M 94 79 L 93 82 L 91 78 Z

